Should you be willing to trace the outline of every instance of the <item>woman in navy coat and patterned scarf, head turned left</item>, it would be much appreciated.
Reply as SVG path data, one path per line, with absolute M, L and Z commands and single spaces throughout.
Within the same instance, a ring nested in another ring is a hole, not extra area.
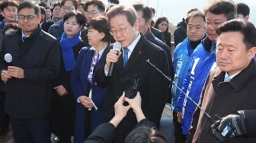
M 104 122 L 103 104 L 107 87 L 94 82 L 93 72 L 104 65 L 110 50 L 110 28 L 107 17 L 95 17 L 88 24 L 88 43 L 81 50 L 71 75 L 72 91 L 75 97 L 74 142 L 85 141 L 99 124 Z

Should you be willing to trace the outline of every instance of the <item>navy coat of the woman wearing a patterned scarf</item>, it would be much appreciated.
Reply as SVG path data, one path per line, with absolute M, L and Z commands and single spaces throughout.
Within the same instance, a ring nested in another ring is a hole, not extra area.
M 106 55 L 110 50 L 110 44 L 104 49 L 104 52 L 99 59 L 94 70 L 98 67 L 104 65 Z M 91 59 L 94 54 L 93 50 L 90 50 L 91 46 L 87 46 L 81 49 L 76 65 L 72 71 L 71 75 L 71 85 L 72 92 L 75 97 L 75 135 L 74 142 L 83 142 L 85 141 L 85 107 L 81 103 L 77 103 L 78 97 L 86 95 L 88 92 L 88 72 L 91 67 Z M 98 107 L 98 110 L 95 108 L 92 109 L 91 114 L 91 131 L 94 130 L 99 124 L 104 122 L 104 99 L 107 96 L 107 87 L 99 86 L 94 82 L 94 76 L 92 78 L 93 84 L 91 85 L 91 100 Z

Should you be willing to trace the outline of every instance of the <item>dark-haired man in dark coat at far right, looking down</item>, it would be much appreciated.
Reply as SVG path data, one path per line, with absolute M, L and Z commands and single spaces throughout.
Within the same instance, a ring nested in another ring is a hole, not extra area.
M 195 111 L 187 142 L 256 142 L 255 116 L 248 111 L 256 109 L 256 28 L 231 20 L 217 35 L 218 68 L 206 79 L 200 100 L 205 111 Z

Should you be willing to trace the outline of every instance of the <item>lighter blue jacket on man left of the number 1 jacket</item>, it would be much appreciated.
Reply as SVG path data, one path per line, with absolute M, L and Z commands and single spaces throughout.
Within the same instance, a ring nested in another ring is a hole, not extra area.
M 187 47 L 190 46 L 190 40 L 185 38 L 181 43 L 176 46 L 174 50 L 174 81 L 171 87 L 171 108 L 174 112 L 178 112 L 176 103 L 181 91 L 177 88 L 182 88 L 184 78 L 187 75 L 187 71 L 192 60 L 193 54 L 189 56 Z

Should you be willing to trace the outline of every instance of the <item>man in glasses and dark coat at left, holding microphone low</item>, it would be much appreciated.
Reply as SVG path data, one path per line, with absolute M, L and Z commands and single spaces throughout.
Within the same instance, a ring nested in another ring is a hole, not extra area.
M 18 6 L 19 29 L 4 37 L 0 70 L 5 82 L 5 110 L 16 143 L 50 143 L 52 80 L 59 74 L 59 43 L 40 27 L 40 8 Z M 11 63 L 5 54 L 11 54 Z

